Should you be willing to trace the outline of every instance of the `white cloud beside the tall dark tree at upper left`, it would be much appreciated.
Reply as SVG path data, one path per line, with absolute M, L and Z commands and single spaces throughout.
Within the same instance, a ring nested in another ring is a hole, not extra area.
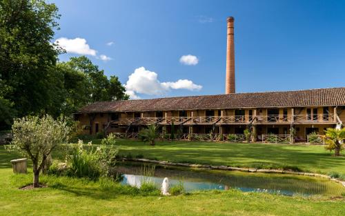
M 96 56 L 97 51 L 92 50 L 86 39 L 76 37 L 75 39 L 68 39 L 66 37 L 60 37 L 55 41 L 61 48 L 69 53 L 75 53 L 79 55 L 92 55 Z

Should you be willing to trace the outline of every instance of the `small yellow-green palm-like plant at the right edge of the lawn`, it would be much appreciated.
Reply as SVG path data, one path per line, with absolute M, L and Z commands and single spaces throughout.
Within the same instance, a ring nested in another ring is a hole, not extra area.
M 335 156 L 340 156 L 340 150 L 342 150 L 342 142 L 345 139 L 345 128 L 327 128 L 325 131 L 326 143 L 328 146 L 326 149 L 334 150 Z

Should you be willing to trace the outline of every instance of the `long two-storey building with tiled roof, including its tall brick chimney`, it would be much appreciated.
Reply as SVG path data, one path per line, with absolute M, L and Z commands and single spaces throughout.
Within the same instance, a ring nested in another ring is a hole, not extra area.
M 128 101 L 102 101 L 79 110 L 85 134 L 114 132 L 137 137 L 141 128 L 159 127 L 161 137 L 244 141 L 308 141 L 345 121 L 345 88 L 235 93 L 234 19 L 229 17 L 226 94 Z

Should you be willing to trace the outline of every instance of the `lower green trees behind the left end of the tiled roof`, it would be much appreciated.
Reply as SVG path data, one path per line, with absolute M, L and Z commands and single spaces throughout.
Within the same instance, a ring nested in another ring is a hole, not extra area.
M 111 76 L 108 79 L 104 71 L 99 70 L 98 66 L 85 56 L 71 57 L 70 61 L 58 63 L 57 68 L 63 74 L 63 115 L 70 115 L 95 101 L 128 99 L 119 78 Z

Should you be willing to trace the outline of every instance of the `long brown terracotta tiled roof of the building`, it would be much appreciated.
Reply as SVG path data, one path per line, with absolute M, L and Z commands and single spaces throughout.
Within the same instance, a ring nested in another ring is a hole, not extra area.
M 79 113 L 300 106 L 345 106 L 345 87 L 285 92 L 253 92 L 128 101 L 101 101 L 84 106 L 79 110 Z

